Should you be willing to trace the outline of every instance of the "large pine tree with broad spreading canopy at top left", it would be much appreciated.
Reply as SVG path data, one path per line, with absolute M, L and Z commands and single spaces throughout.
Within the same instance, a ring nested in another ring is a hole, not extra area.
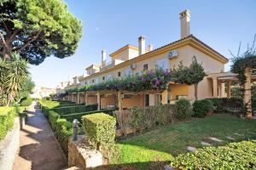
M 17 52 L 30 64 L 74 54 L 81 37 L 79 20 L 62 0 L 0 0 L 0 57 Z

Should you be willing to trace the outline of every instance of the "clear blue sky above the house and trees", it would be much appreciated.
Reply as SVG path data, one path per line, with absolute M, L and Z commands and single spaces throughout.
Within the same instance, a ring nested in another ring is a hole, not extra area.
M 69 11 L 83 24 L 83 37 L 76 53 L 66 59 L 49 57 L 41 65 L 31 65 L 32 79 L 38 86 L 55 88 L 85 73 L 90 64 L 101 63 L 101 50 L 107 55 L 127 43 L 137 45 L 137 37 L 146 37 L 146 45 L 159 48 L 180 37 L 179 13 L 191 11 L 190 32 L 228 59 L 229 49 L 236 53 L 253 42 L 256 33 L 256 1 L 238 0 L 65 0 Z M 108 57 L 107 57 L 108 58 Z M 107 59 L 107 61 L 109 58 Z M 229 65 L 225 70 L 229 71 Z

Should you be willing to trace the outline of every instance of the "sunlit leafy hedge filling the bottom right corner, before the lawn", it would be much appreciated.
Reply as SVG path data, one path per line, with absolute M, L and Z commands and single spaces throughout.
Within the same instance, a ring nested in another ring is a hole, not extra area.
M 181 154 L 171 163 L 178 169 L 256 169 L 256 141 L 205 147 Z

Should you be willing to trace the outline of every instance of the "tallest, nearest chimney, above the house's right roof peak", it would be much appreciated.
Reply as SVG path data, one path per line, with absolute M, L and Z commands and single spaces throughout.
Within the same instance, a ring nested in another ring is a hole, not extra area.
M 180 37 L 188 37 L 190 35 L 190 11 L 188 9 L 184 10 L 179 14 L 180 19 Z

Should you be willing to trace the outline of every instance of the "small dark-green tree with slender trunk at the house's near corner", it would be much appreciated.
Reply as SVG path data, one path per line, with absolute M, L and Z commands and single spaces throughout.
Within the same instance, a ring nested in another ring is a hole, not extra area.
M 195 56 L 192 59 L 192 63 L 189 66 L 184 66 L 181 61 L 177 69 L 172 71 L 172 79 L 174 82 L 181 84 L 194 85 L 195 87 L 195 100 L 197 100 L 197 88 L 198 83 L 206 76 L 203 66 L 197 62 Z

